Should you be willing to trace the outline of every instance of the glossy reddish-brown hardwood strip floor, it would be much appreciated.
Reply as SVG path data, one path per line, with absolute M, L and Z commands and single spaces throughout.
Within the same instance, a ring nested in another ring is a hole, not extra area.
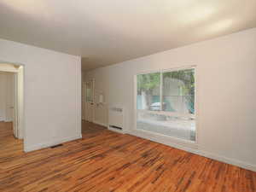
M 0 191 L 253 192 L 256 172 L 83 123 L 83 139 L 22 152 L 0 123 Z

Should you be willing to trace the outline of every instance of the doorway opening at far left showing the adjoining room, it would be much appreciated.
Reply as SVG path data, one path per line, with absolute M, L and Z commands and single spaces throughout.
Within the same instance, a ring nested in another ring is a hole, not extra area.
M 24 67 L 0 63 L 0 143 L 20 145 L 24 134 Z

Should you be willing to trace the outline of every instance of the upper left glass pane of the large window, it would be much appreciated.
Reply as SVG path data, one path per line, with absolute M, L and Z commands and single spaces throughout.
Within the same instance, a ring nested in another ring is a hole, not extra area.
M 160 73 L 137 75 L 137 109 L 160 110 Z

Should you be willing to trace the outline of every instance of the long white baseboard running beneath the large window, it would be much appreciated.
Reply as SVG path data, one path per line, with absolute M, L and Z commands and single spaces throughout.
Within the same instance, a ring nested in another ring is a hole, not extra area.
M 147 134 L 142 134 L 142 133 L 139 133 L 138 131 L 126 131 L 126 133 L 131 134 L 136 137 L 142 137 L 142 138 L 154 141 L 156 143 L 162 143 L 162 144 L 171 146 L 173 148 L 179 148 L 184 151 L 188 151 L 192 154 L 199 154 L 201 156 L 210 158 L 212 160 L 218 160 L 218 161 L 221 161 L 221 162 L 233 165 L 233 166 L 239 166 L 241 168 L 256 172 L 256 165 L 252 165 L 252 164 L 249 164 L 249 163 L 241 161 L 241 160 L 235 160 L 235 159 L 231 159 L 228 157 L 224 157 L 222 155 L 213 154 L 211 152 L 201 150 L 200 148 L 191 148 L 189 146 L 184 146 L 182 143 L 172 143 L 172 142 L 170 142 L 170 140 L 169 141 L 167 141 L 165 139 L 160 140 L 158 137 L 150 137 Z

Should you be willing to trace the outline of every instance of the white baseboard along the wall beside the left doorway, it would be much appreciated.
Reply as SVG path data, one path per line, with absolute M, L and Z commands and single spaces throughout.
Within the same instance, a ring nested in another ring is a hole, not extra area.
M 75 136 L 75 137 L 66 137 L 66 138 L 62 138 L 62 139 L 57 139 L 55 141 L 49 142 L 49 143 L 38 143 L 32 146 L 24 146 L 24 151 L 25 152 L 30 152 L 30 151 L 34 151 L 34 150 L 38 150 L 41 148 L 49 148 L 50 146 L 54 146 L 57 144 L 61 144 L 61 143 L 66 143 L 66 142 L 70 142 L 76 139 L 80 139 L 82 138 L 82 134 L 80 134 L 79 136 Z

